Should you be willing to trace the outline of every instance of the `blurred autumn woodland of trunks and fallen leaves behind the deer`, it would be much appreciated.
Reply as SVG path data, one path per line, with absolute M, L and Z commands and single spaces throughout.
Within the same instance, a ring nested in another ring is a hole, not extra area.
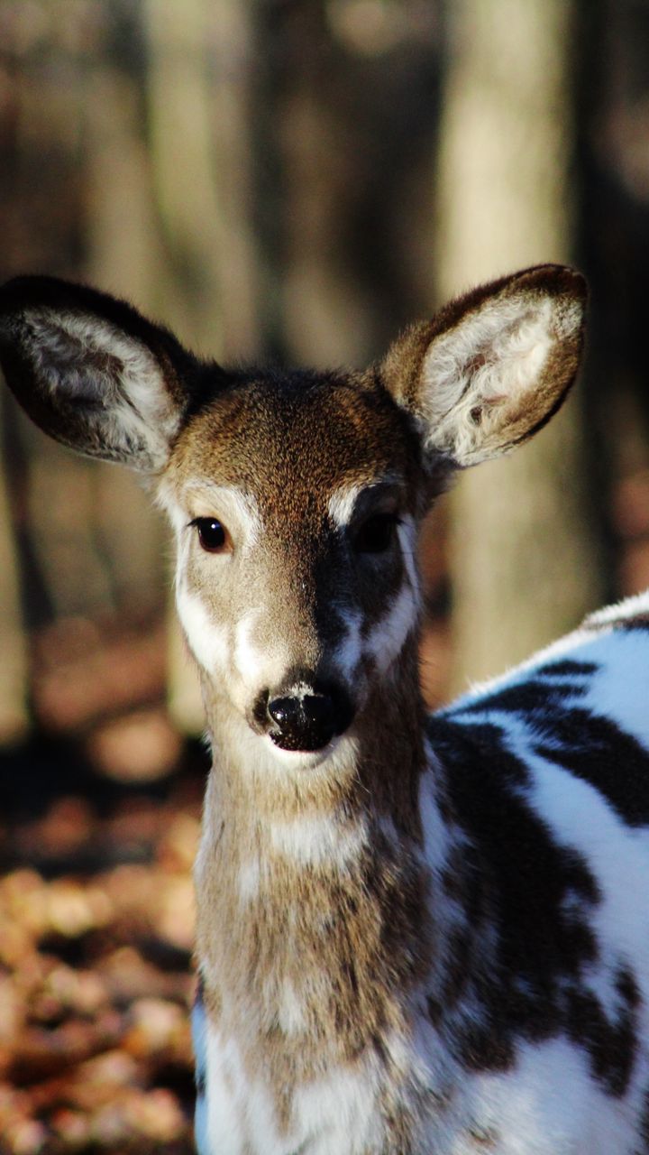
M 0 0 L 0 275 L 225 363 L 365 365 L 567 261 L 561 415 L 463 476 L 422 565 L 432 705 L 649 586 L 647 0 Z M 0 394 L 0 1153 L 186 1155 L 207 755 L 137 483 Z

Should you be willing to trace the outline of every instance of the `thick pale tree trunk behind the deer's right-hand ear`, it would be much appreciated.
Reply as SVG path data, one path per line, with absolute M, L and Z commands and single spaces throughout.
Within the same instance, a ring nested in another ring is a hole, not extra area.
M 573 252 L 575 5 L 456 0 L 441 131 L 439 293 Z M 605 588 L 581 396 L 452 498 L 454 688 L 576 625 Z

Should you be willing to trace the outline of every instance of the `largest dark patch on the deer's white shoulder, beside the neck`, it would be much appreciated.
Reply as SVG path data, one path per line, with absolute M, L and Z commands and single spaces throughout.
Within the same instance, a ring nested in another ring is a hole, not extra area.
M 478 872 L 482 880 L 478 909 L 476 888 L 469 888 L 472 940 L 458 946 L 458 969 L 467 967 L 469 953 L 479 956 L 485 912 L 495 926 L 493 962 L 475 979 L 482 1019 L 461 1031 L 458 1058 L 470 1070 L 506 1070 L 517 1038 L 564 1033 L 587 1051 L 603 1087 L 621 1095 L 636 1048 L 637 990 L 633 976 L 620 970 L 614 981 L 619 1009 L 610 1019 L 584 982 L 598 962 L 589 925 L 599 901 L 592 874 L 576 851 L 554 842 L 527 803 L 528 768 L 506 747 L 499 726 L 437 717 L 430 737 L 447 773 L 455 818 L 477 855 L 471 874 Z M 454 893 L 461 895 L 458 884 Z M 443 999 L 440 1004 L 428 1004 L 433 1022 L 443 1019 Z

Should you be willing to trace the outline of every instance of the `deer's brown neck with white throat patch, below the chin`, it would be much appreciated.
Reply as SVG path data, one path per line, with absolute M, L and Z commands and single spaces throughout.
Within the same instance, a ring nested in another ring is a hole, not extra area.
M 233 740 L 225 702 L 206 705 L 215 762 L 196 881 L 208 1007 L 222 1029 L 255 1023 L 256 1053 L 282 1038 L 306 1067 L 326 1051 L 344 1060 L 396 1024 L 431 964 L 415 647 L 331 766 L 301 775 Z

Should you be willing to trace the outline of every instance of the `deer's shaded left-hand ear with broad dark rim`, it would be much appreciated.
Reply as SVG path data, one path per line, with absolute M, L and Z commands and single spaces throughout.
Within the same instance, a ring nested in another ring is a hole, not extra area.
M 53 277 L 0 289 L 0 364 L 32 420 L 91 457 L 162 469 L 195 364 L 124 301 Z

